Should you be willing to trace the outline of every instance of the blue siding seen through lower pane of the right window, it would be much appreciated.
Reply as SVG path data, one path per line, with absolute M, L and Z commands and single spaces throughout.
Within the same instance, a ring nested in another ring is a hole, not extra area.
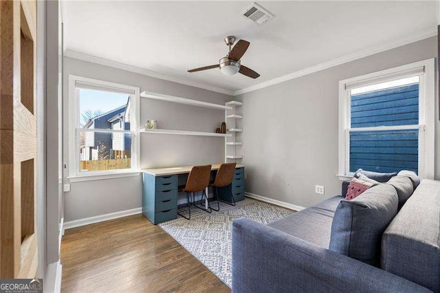
M 419 131 L 360 131 L 350 133 L 350 171 L 418 170 Z

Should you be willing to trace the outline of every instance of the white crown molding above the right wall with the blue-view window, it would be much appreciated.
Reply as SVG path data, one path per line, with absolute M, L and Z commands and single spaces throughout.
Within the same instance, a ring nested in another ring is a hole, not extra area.
M 404 39 L 400 39 L 397 41 L 393 41 L 390 43 L 385 43 L 382 45 L 377 45 L 375 47 L 370 47 L 366 50 L 358 51 L 353 54 L 349 54 L 347 56 L 343 56 L 340 58 L 333 59 L 331 61 L 327 61 L 325 63 L 321 63 L 312 67 L 308 67 L 297 72 L 292 72 L 291 74 L 286 74 L 285 76 L 281 76 L 278 78 L 274 78 L 271 80 L 267 80 L 263 83 L 259 83 L 257 85 L 252 85 L 250 87 L 246 87 L 244 89 L 239 89 L 238 91 L 234 91 L 233 96 L 239 96 L 241 94 L 248 93 L 250 91 L 256 91 L 257 89 L 263 89 L 265 87 L 270 87 L 271 85 L 276 85 L 278 83 L 284 83 L 287 80 L 292 80 L 294 78 L 298 78 L 301 76 L 306 76 L 308 74 L 312 74 L 314 72 L 319 72 L 324 69 L 329 69 L 331 67 L 335 67 L 338 65 L 342 65 L 344 63 L 349 63 L 351 61 L 358 60 L 360 58 L 364 58 L 366 56 L 371 56 L 380 52 L 388 51 L 391 49 L 395 49 L 396 47 L 401 47 L 403 45 L 408 45 L 409 43 L 414 43 L 417 41 L 421 41 L 423 39 L 428 39 L 432 36 L 437 36 L 437 28 L 432 28 L 430 30 L 425 30 L 423 32 L 418 32 L 417 34 L 413 34 L 412 36 L 408 36 Z

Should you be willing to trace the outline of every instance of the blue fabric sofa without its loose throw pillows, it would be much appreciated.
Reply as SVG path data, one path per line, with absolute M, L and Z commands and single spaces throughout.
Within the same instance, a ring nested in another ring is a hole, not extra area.
M 268 225 L 237 219 L 232 224 L 232 291 L 440 292 L 440 182 L 415 184 L 404 204 L 403 189 L 395 186 L 386 187 L 395 198 L 399 195 L 399 210 L 396 199 L 396 215 L 381 231 L 375 264 L 329 249 L 342 196 Z M 342 194 L 346 190 L 347 182 Z M 369 191 L 380 193 L 380 187 Z

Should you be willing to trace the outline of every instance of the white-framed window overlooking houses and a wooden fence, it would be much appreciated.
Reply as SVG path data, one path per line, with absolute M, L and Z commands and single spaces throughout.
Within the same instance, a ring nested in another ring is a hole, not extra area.
M 137 170 L 139 89 L 69 76 L 70 177 Z

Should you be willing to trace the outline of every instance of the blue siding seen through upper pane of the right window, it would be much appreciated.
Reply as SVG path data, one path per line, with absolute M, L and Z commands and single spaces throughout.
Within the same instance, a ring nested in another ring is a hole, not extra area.
M 419 124 L 419 84 L 351 96 L 351 128 Z

